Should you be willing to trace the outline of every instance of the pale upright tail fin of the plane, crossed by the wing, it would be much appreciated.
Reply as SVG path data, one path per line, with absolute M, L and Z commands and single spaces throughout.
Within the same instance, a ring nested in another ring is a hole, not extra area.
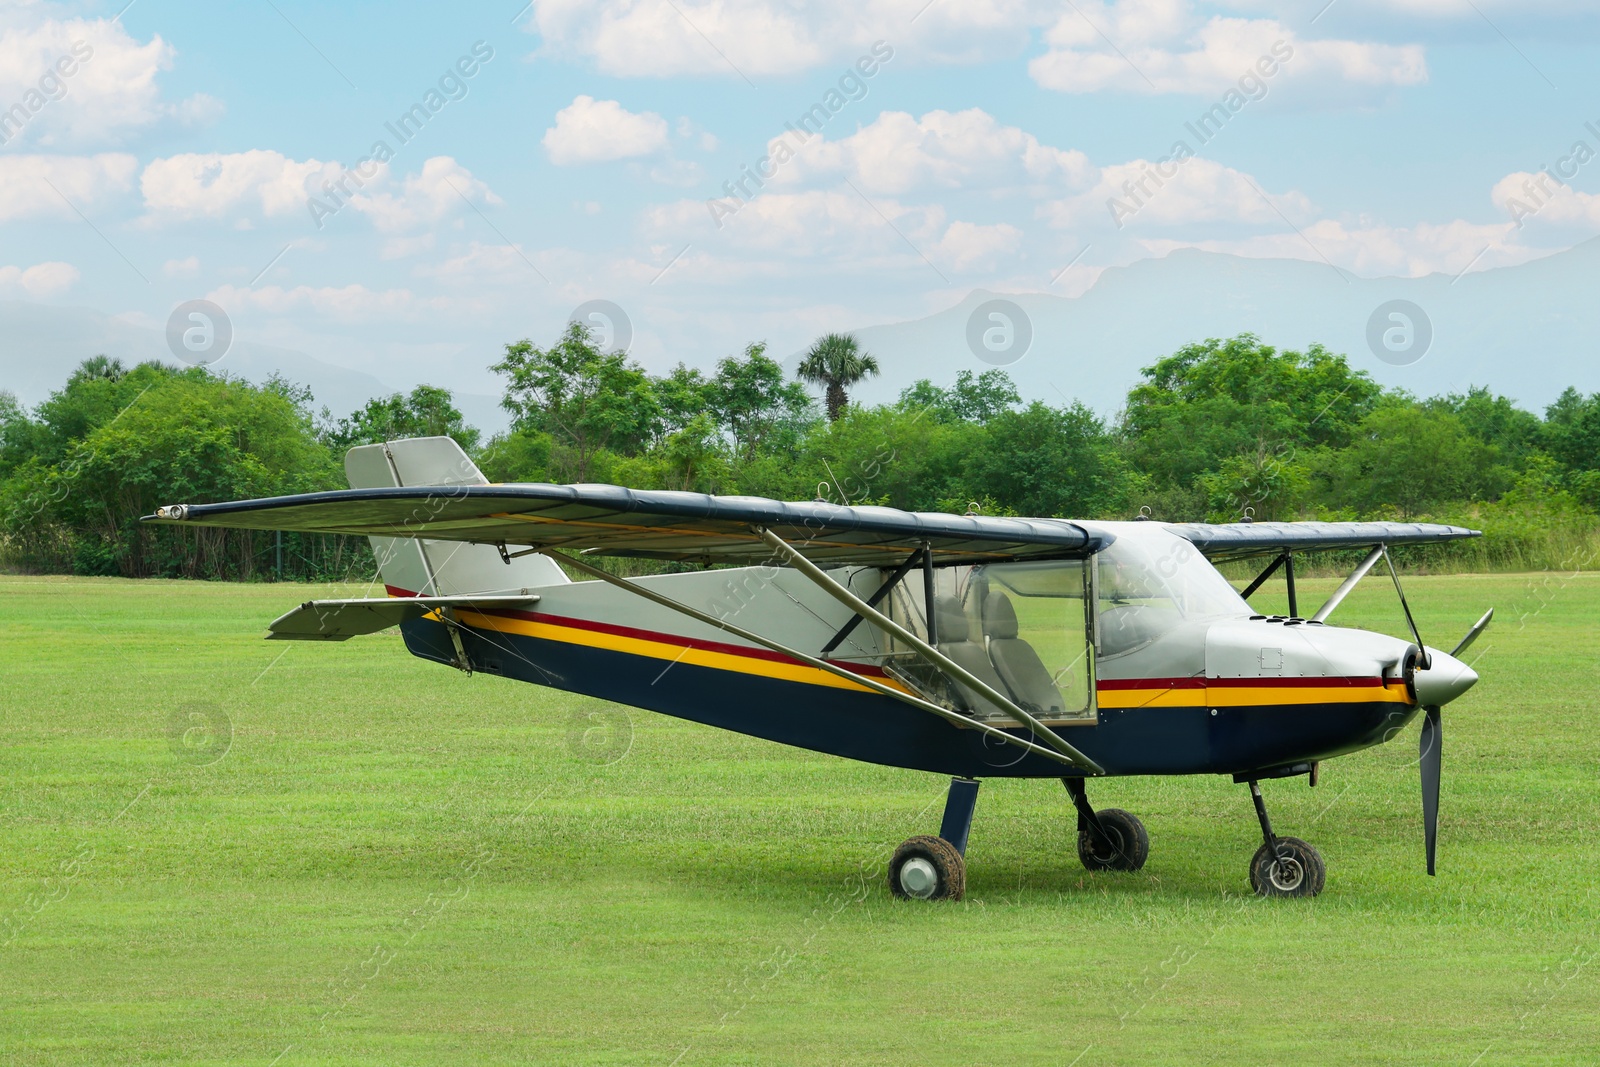
M 477 464 L 448 437 L 360 445 L 346 453 L 344 474 L 352 490 L 488 485 Z M 371 537 L 371 542 L 392 597 L 515 593 L 568 581 L 555 560 L 544 555 L 506 563 L 499 549 L 486 544 L 421 537 Z

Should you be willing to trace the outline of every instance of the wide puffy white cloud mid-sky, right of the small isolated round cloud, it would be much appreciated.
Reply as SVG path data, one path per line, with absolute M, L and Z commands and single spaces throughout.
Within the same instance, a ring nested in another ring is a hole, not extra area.
M 795 152 L 798 138 L 768 144 L 770 154 L 794 152 L 778 170 L 781 184 L 850 178 L 870 192 L 902 195 L 917 189 L 1005 189 L 1037 186 L 1051 192 L 1093 181 L 1094 168 L 1077 150 L 1040 144 L 1016 126 L 1003 126 L 982 109 L 931 110 L 922 118 L 882 112 L 838 141 L 814 138 Z M 779 158 L 774 155 L 774 158 Z

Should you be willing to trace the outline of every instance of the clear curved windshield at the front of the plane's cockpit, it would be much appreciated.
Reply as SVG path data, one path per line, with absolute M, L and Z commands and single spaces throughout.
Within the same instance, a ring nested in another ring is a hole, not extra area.
M 1117 656 L 1186 619 L 1253 614 L 1200 550 L 1154 523 L 1117 523 L 1099 565 L 1099 651 Z

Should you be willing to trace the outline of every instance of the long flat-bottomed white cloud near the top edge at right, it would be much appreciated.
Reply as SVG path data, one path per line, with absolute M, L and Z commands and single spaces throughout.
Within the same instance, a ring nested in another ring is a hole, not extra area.
M 1427 80 L 1419 45 L 1301 38 L 1277 19 L 1202 19 L 1190 0 L 1083 0 L 1045 40 L 1050 51 L 1027 69 L 1038 85 L 1062 93 L 1221 94 L 1246 78 L 1245 91 L 1254 94 L 1285 80 L 1362 88 Z

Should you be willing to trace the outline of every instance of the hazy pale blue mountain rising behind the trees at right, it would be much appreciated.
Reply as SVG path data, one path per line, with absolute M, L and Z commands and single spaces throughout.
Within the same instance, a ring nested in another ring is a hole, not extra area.
M 1077 298 L 978 290 L 926 318 L 858 330 L 883 373 L 853 395 L 893 400 L 918 378 L 942 384 L 962 370 L 987 370 L 968 347 L 968 320 L 987 301 L 1006 299 L 1032 323 L 1029 350 L 1005 366 L 1024 398 L 1067 397 L 1114 414 L 1141 368 L 1190 341 L 1248 331 L 1285 349 L 1322 342 L 1379 382 L 1421 397 L 1490 386 L 1541 411 L 1568 386 L 1600 390 L 1597 288 L 1600 238 L 1459 278 L 1357 278 L 1323 262 L 1179 250 L 1110 267 Z M 1432 323 L 1430 347 L 1406 365 L 1379 360 L 1366 341 L 1373 312 L 1395 299 L 1411 301 Z

